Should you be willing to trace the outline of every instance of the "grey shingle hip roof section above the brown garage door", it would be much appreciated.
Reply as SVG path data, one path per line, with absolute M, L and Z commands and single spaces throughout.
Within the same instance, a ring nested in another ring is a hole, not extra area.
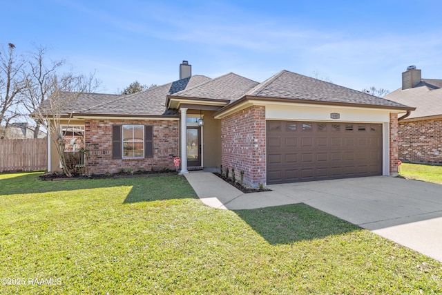
M 391 106 L 392 108 L 407 107 L 381 97 L 292 73 L 288 70 L 280 71 L 280 73 L 251 89 L 246 95 L 314 102 Z

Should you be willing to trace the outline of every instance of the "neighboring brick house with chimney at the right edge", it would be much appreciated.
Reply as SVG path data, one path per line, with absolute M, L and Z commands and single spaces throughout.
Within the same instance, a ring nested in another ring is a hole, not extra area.
M 442 79 L 422 79 L 421 70 L 410 66 L 402 73 L 402 88 L 385 98 L 416 106 L 416 111 L 398 122 L 399 158 L 442 163 Z

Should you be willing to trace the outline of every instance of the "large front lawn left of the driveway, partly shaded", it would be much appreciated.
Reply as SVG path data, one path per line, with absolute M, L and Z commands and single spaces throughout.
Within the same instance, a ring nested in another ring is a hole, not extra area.
M 179 175 L 38 175 L 0 175 L 0 278 L 26 280 L 1 294 L 442 293 L 441 263 L 305 204 L 223 211 Z

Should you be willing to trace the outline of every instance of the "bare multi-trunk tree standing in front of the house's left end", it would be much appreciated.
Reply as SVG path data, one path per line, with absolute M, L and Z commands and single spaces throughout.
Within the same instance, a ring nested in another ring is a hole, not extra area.
M 71 177 L 72 173 L 64 157 L 65 144 L 62 126 L 69 126 L 79 95 L 95 91 L 99 84 L 95 73 L 90 73 L 88 76 L 73 73 L 59 76 L 53 73 L 47 81 L 50 87 L 46 90 L 46 100 L 32 113 L 32 117 L 40 122 L 50 134 L 57 149 L 61 169 L 68 177 Z

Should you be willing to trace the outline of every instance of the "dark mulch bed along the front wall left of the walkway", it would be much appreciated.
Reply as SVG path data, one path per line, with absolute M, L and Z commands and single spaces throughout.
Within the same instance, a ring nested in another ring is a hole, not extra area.
M 60 172 L 45 173 L 40 175 L 40 180 L 55 181 L 55 180 L 78 180 L 78 179 L 105 179 L 105 178 L 132 178 L 132 177 L 143 177 L 143 176 L 155 176 L 155 175 L 169 175 L 177 174 L 175 170 L 165 169 L 158 171 L 134 171 L 129 172 L 119 172 L 119 173 L 104 173 L 104 174 L 91 174 L 91 175 L 79 175 L 73 174 L 72 177 L 68 178 L 66 174 Z

